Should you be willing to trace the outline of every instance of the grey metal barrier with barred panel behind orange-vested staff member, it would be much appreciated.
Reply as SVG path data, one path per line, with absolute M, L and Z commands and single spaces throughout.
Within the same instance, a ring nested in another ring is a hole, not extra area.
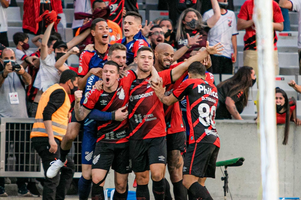
M 33 149 L 30 132 L 34 118 L 1 118 L 0 124 L 0 176 L 44 177 L 41 159 Z M 74 177 L 81 176 L 81 138 L 74 141 Z

